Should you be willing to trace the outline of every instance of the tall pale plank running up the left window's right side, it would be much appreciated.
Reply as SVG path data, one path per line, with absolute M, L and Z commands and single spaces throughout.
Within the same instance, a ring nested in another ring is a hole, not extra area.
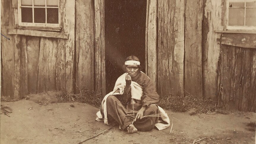
M 64 0 L 64 10 L 63 10 L 63 31 L 68 33 L 69 37 L 65 40 L 65 68 L 66 68 L 66 90 L 73 92 L 74 85 L 74 53 L 75 53 L 75 0 Z

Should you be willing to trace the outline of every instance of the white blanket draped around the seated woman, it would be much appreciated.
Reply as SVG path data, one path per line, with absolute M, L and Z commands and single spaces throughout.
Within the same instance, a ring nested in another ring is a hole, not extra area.
M 118 77 L 118 79 L 116 80 L 114 90 L 111 91 L 109 94 L 107 94 L 104 97 L 104 99 L 102 100 L 100 110 L 102 110 L 105 115 L 104 123 L 107 125 L 108 125 L 108 118 L 107 118 L 108 113 L 107 113 L 107 102 L 106 102 L 107 98 L 110 95 L 122 95 L 124 93 L 124 87 L 126 85 L 126 82 L 125 82 L 126 75 L 127 75 L 127 73 L 124 73 L 123 75 Z M 132 83 L 131 83 L 132 98 L 141 100 L 142 94 L 143 94 L 142 87 L 138 83 L 132 81 Z M 161 116 L 159 117 L 159 121 L 155 124 L 155 126 L 157 127 L 158 130 L 163 130 L 163 129 L 166 129 L 168 126 L 170 126 L 170 119 L 161 107 L 158 106 L 158 110 L 159 110 L 159 113 L 161 114 Z M 103 121 L 103 117 L 102 117 L 100 111 L 98 111 L 96 115 L 98 116 L 96 118 L 97 121 Z M 164 124 L 163 122 L 167 123 L 167 124 Z

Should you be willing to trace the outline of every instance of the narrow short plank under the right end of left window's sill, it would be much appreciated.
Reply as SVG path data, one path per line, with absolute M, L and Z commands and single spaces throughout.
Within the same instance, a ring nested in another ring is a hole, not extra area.
M 56 59 L 56 90 L 66 90 L 66 60 L 65 60 L 65 40 L 57 40 L 57 59 Z

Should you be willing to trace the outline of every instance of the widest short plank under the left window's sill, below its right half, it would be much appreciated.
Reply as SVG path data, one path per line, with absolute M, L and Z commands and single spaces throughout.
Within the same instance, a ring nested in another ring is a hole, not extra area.
M 38 62 L 37 92 L 56 90 L 57 41 L 42 37 Z

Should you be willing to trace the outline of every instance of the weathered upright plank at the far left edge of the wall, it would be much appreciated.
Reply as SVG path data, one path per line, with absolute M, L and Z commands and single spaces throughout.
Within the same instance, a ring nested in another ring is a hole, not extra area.
M 7 34 L 8 28 L 13 28 L 14 15 L 11 1 L 1 2 L 1 96 L 13 98 L 14 93 L 14 36 Z

